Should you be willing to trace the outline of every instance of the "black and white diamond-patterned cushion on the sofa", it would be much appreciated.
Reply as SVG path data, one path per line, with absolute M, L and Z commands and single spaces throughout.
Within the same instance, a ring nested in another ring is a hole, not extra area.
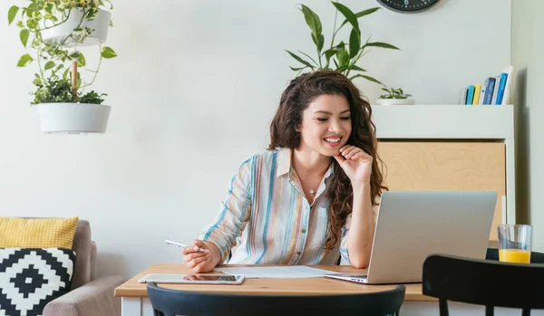
M 63 248 L 0 248 L 0 316 L 42 315 L 70 291 L 75 254 Z

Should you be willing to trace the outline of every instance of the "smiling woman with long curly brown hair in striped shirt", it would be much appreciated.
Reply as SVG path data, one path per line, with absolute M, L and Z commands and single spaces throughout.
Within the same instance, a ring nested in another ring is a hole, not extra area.
M 228 263 L 335 264 L 340 253 L 366 267 L 386 189 L 371 111 L 339 72 L 291 81 L 268 150 L 241 165 L 214 223 L 183 249 L 187 266 L 209 272 L 228 254 Z

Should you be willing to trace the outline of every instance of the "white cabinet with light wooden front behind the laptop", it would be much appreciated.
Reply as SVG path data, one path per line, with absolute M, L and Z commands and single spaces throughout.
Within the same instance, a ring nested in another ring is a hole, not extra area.
M 516 224 L 512 105 L 372 110 L 390 190 L 493 190 L 498 199 L 490 240 L 497 240 L 496 225 Z

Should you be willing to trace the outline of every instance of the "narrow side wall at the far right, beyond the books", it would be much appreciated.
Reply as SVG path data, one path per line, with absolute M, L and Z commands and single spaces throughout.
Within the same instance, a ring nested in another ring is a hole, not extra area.
M 544 62 L 542 52 L 544 21 L 539 12 L 544 2 L 538 0 L 512 2 L 512 63 L 517 68 L 514 102 L 516 107 L 516 142 L 518 175 L 516 207 L 518 222 L 533 225 L 533 248 L 544 251 L 544 134 L 542 118 L 542 86 Z

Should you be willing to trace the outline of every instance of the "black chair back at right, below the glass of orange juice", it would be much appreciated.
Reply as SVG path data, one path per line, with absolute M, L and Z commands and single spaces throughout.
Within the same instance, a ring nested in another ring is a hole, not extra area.
M 448 301 L 494 307 L 544 309 L 544 264 L 500 263 L 432 254 L 423 263 L 423 295 L 439 299 L 440 315 L 448 316 Z

